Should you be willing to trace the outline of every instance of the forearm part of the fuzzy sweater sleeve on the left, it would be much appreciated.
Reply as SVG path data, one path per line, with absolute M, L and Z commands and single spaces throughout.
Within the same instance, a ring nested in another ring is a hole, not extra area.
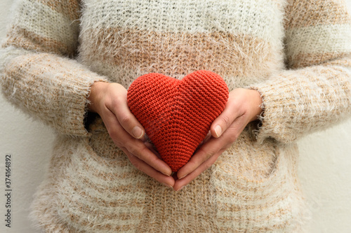
M 89 136 L 84 125 L 91 85 L 107 78 L 79 62 L 29 53 L 4 66 L 2 91 L 12 104 L 60 134 Z

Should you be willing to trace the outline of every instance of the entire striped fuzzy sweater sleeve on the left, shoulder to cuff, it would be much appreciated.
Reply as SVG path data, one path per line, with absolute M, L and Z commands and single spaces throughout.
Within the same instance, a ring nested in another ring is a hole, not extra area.
M 60 134 L 88 135 L 84 127 L 91 85 L 107 78 L 74 59 L 78 0 L 16 1 L 0 51 L 6 99 Z

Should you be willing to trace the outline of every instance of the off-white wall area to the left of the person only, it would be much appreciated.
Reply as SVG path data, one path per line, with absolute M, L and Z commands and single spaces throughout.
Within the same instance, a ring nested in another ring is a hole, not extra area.
M 0 0 L 0 39 L 13 0 Z M 35 189 L 44 178 L 53 133 L 15 110 L 0 94 L 0 232 L 34 233 L 27 219 Z M 11 229 L 5 227 L 5 155 L 11 153 Z

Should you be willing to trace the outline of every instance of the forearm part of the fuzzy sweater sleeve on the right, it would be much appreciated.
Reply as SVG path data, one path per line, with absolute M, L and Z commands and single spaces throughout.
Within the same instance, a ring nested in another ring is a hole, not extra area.
M 249 87 L 263 99 L 260 122 L 249 124 L 258 143 L 290 143 L 336 125 L 351 115 L 351 73 L 343 66 L 310 66 L 281 71 Z

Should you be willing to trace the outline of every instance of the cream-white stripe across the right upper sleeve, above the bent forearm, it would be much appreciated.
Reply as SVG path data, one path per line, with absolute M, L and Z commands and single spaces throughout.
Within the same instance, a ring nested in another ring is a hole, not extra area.
M 350 24 L 317 25 L 286 31 L 287 55 L 351 52 Z

